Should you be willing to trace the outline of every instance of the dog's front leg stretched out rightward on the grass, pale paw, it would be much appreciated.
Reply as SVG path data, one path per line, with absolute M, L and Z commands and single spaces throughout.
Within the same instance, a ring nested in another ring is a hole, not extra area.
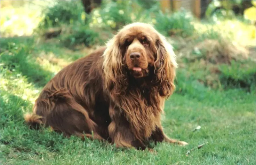
M 156 130 L 152 133 L 150 139 L 155 141 L 155 143 L 164 141 L 164 142 L 168 142 L 168 143 L 175 143 L 178 145 L 188 145 L 187 142 L 169 138 L 167 135 L 165 135 L 163 129 L 159 128 L 159 127 L 157 127 Z

